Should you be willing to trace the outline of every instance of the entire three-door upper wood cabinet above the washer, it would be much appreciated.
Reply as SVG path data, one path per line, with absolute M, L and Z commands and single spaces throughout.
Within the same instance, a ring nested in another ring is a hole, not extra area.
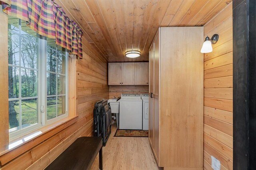
M 108 85 L 148 85 L 148 63 L 108 63 Z

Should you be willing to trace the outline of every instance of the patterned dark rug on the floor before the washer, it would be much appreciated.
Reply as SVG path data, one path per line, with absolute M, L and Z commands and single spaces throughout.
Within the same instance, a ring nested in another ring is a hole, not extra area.
M 116 129 L 116 137 L 148 137 L 148 130 Z

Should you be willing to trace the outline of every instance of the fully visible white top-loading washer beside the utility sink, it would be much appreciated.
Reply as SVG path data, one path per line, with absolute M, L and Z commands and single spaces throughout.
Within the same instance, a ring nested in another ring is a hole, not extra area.
M 142 130 L 140 94 L 122 94 L 119 100 L 119 128 Z

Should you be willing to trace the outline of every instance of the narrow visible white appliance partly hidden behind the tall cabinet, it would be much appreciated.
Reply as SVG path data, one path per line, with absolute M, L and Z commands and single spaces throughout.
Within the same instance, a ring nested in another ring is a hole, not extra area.
M 148 130 L 149 95 L 141 94 L 141 99 L 142 99 L 142 130 Z

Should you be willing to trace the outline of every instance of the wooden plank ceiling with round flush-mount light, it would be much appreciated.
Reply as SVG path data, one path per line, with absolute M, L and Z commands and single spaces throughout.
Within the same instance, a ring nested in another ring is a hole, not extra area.
M 158 27 L 203 26 L 232 0 L 55 0 L 109 62 L 148 61 Z M 211 35 L 210 35 L 211 36 Z M 130 59 L 128 50 L 141 51 Z

